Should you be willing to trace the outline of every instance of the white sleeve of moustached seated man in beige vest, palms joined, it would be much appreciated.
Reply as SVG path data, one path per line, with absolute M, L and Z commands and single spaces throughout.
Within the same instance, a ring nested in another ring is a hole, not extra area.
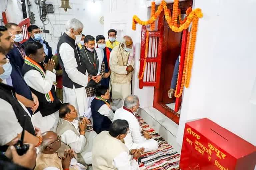
M 87 143 L 84 135 L 77 136 L 72 130 L 67 130 L 61 135 L 61 141 L 71 147 L 76 153 L 81 153 Z

